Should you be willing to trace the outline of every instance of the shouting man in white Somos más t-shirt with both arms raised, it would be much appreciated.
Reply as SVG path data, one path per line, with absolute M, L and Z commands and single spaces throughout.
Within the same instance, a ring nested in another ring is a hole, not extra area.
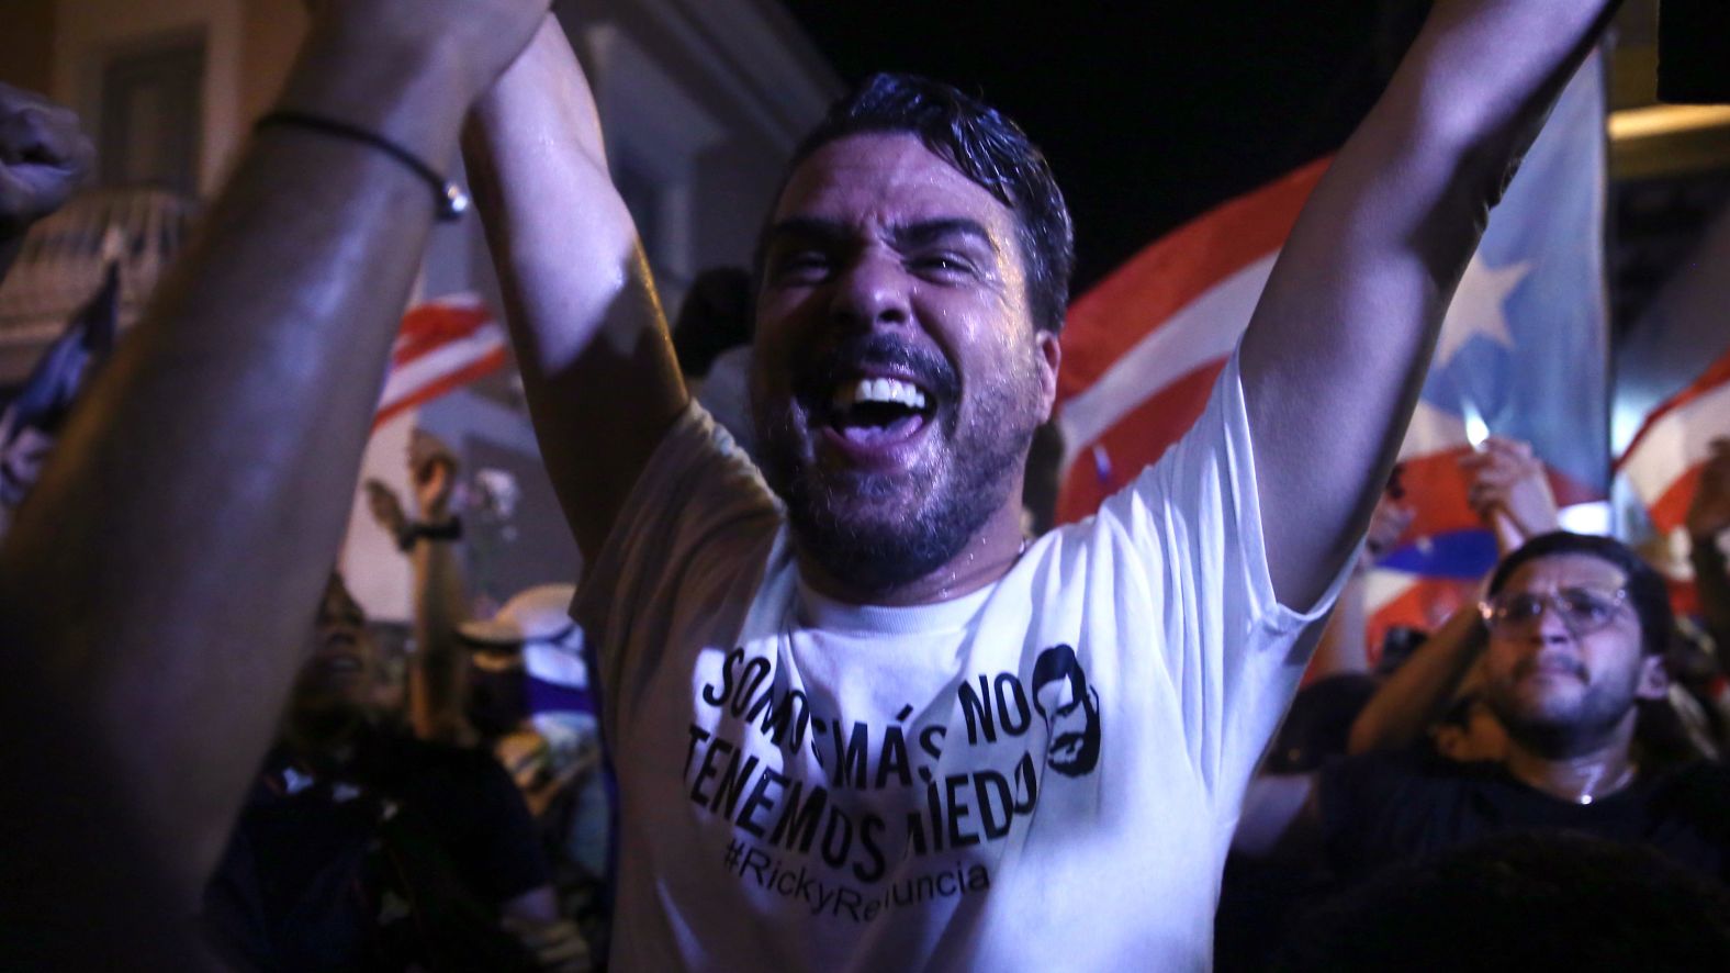
M 1436 7 L 1197 428 L 1040 538 L 1022 471 L 1073 251 L 1026 137 L 877 76 L 804 140 L 756 267 L 754 467 L 689 407 L 581 69 L 538 35 L 465 158 L 588 559 L 614 961 L 1204 964 L 1251 769 L 1448 294 L 1607 16 Z

